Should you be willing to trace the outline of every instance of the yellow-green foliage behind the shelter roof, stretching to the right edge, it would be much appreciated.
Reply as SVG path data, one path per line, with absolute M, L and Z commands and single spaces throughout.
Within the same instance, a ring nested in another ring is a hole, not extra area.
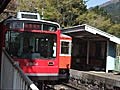
M 108 15 L 102 8 L 95 7 L 88 10 L 77 18 L 77 22 L 79 24 L 89 24 L 120 37 L 120 24 L 113 23 L 110 15 Z

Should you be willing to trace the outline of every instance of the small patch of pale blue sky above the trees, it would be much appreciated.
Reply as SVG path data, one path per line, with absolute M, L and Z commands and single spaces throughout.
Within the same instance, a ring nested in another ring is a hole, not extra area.
M 84 1 L 88 1 L 86 3 L 87 5 L 87 8 L 90 8 L 90 7 L 94 7 L 94 6 L 97 6 L 97 5 L 101 5 L 107 1 L 110 1 L 110 0 L 84 0 Z

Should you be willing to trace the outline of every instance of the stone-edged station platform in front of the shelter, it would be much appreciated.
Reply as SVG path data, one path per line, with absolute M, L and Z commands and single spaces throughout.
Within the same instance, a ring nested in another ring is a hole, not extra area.
M 120 74 L 118 73 L 105 73 L 102 71 L 78 71 L 70 70 L 70 77 L 77 80 L 83 80 L 86 83 L 96 83 L 98 85 L 106 85 L 120 88 Z

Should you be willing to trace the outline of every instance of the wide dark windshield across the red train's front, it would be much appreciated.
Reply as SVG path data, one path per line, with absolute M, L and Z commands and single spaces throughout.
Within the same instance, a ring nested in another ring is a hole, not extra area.
M 17 58 L 56 58 L 56 34 L 8 31 L 5 43 L 8 53 Z

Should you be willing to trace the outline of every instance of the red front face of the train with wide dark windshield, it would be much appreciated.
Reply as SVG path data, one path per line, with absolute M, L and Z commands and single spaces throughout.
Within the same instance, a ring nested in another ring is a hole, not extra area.
M 43 20 L 6 21 L 5 48 L 32 80 L 57 80 L 60 31 Z

